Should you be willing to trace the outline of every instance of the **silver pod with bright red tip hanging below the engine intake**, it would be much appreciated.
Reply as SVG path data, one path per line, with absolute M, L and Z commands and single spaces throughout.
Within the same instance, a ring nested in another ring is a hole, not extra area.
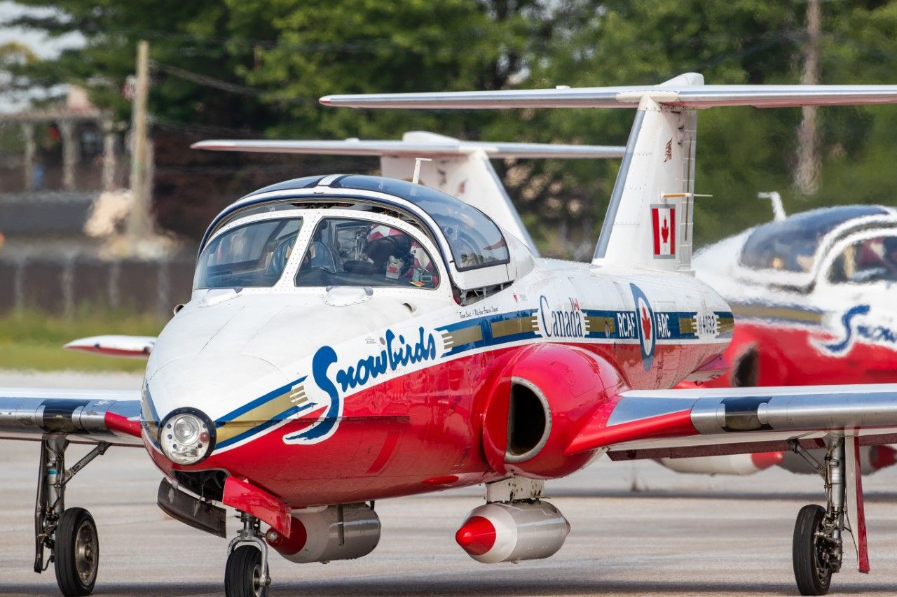
M 570 523 L 548 502 L 486 504 L 470 511 L 455 541 L 483 564 L 552 556 L 561 549 Z

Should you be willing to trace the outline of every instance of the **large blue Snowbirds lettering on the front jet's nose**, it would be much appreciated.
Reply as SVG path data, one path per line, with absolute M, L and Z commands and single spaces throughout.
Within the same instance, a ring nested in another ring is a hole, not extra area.
M 283 443 L 309 445 L 324 441 L 339 427 L 343 414 L 341 394 L 368 385 L 378 377 L 387 376 L 399 368 L 435 360 L 437 355 L 435 336 L 426 333 L 424 337 L 422 327 L 418 328 L 417 334 L 412 343 L 406 341 L 404 335 L 396 336 L 395 332 L 387 330 L 380 339 L 383 349 L 379 353 L 369 354 L 357 359 L 353 365 L 338 368 L 333 379 L 329 371 L 332 366 L 339 363 L 339 356 L 332 346 L 325 345 L 319 348 L 311 358 L 311 376 L 315 384 L 327 394 L 329 400 L 317 420 L 298 433 L 291 432 L 283 436 Z

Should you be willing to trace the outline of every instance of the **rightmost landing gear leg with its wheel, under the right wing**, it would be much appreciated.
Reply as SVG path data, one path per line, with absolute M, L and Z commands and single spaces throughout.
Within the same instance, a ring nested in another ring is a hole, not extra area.
M 795 444 L 797 446 L 797 444 Z M 795 451 L 802 448 L 795 447 Z M 824 595 L 839 572 L 843 556 L 846 462 L 844 438 L 832 439 L 820 467 L 825 480 L 826 506 L 804 506 L 794 527 L 792 558 L 797 589 L 802 595 Z

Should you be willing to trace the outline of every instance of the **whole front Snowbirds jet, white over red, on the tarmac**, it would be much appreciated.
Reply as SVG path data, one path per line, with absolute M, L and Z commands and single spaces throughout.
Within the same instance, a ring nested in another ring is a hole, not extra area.
M 544 480 L 603 454 L 824 447 L 827 506 L 797 516 L 798 587 L 828 590 L 848 511 L 867 570 L 858 446 L 893 443 L 897 386 L 669 388 L 718 370 L 734 326 L 692 276 L 696 108 L 893 103 L 897 86 L 702 83 L 322 99 L 636 108 L 595 260 L 536 258 L 486 213 L 401 180 L 305 177 L 243 197 L 209 227 L 140 395 L 0 391 L 0 434 L 41 439 L 35 568 L 49 550 L 64 593 L 93 588 L 94 523 L 64 504 L 84 464 L 66 468 L 65 446 L 83 440 L 98 442 L 88 459 L 144 446 L 166 476 L 160 506 L 185 523 L 222 534 L 216 503 L 239 511 L 229 595 L 267 592 L 269 547 L 296 562 L 368 554 L 375 499 L 480 483 L 462 548 L 546 558 L 569 524 Z M 672 257 L 654 251 L 652 205 L 673 208 Z M 369 239 L 376 227 L 397 232 Z

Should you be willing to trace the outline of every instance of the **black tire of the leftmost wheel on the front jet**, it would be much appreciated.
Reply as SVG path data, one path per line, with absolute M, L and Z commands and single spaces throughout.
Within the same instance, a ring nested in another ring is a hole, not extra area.
M 84 508 L 68 508 L 59 517 L 53 562 L 62 594 L 91 594 L 100 567 L 100 536 L 93 516 Z

